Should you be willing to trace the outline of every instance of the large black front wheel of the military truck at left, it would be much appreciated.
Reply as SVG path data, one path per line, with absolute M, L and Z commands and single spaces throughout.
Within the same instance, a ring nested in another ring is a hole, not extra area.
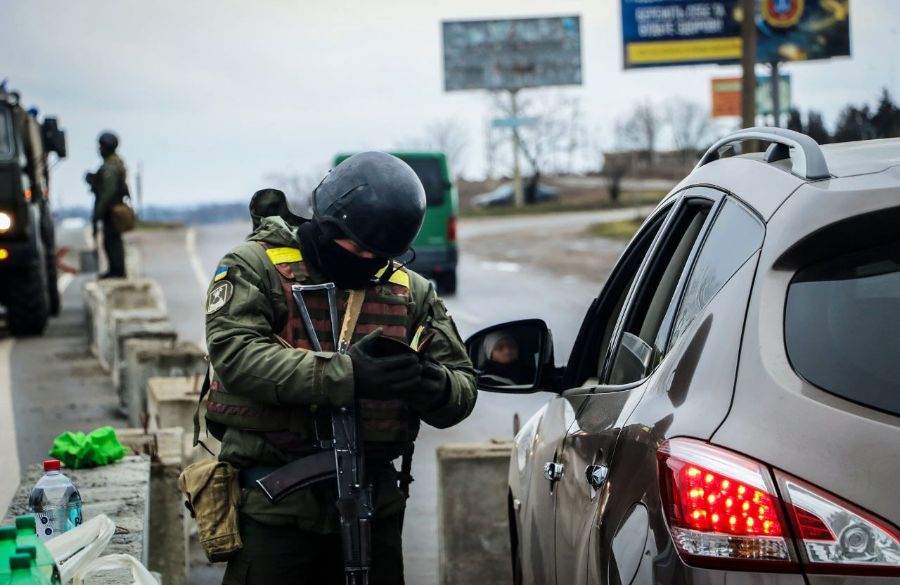
M 17 337 L 40 335 L 50 316 L 47 272 L 42 260 L 35 260 L 31 268 L 9 276 L 6 307 L 9 332 Z

